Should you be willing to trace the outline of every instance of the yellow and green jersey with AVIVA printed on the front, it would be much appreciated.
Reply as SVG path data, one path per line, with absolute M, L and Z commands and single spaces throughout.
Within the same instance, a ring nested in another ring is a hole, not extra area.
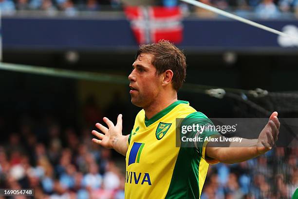
M 205 158 L 207 141 L 198 148 L 176 147 L 177 118 L 198 118 L 212 123 L 182 100 L 151 119 L 145 117 L 144 110 L 137 114 L 126 154 L 125 199 L 200 198 L 208 163 L 217 161 Z M 214 134 L 219 135 L 208 132 L 199 136 Z

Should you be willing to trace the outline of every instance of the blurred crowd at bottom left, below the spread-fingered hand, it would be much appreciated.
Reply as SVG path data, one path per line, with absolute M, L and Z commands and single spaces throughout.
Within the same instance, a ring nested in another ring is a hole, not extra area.
M 90 132 L 78 137 L 50 127 L 47 144 L 23 126 L 0 147 L 0 187 L 34 189 L 36 199 L 124 199 L 123 172 L 111 159 L 111 150 L 92 147 Z M 22 136 L 21 136 L 22 135 Z

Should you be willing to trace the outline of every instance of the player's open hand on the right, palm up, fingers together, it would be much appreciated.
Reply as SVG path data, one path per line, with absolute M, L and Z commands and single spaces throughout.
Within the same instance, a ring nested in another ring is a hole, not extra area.
M 279 136 L 280 122 L 278 119 L 278 112 L 271 114 L 268 123 L 261 131 L 258 138 L 258 154 L 263 154 L 275 145 Z

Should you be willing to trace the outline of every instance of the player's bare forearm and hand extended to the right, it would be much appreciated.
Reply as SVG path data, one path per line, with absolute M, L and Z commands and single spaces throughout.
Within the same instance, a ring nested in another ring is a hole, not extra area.
M 280 123 L 277 116 L 277 112 L 272 113 L 258 139 L 242 139 L 242 143 L 232 142 L 228 147 L 213 147 L 208 143 L 205 157 L 232 164 L 266 153 L 278 139 Z

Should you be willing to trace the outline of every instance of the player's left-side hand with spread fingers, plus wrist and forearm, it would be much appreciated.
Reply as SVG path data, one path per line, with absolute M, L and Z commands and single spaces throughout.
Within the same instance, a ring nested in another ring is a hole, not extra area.
M 122 115 L 120 114 L 118 116 L 116 125 L 114 125 L 113 122 L 108 118 L 103 118 L 103 120 L 108 125 L 108 128 L 100 123 L 96 123 L 95 126 L 102 133 L 93 130 L 92 134 L 98 139 L 93 138 L 92 141 L 105 148 L 113 148 L 118 153 L 126 156 L 129 135 L 122 135 Z

